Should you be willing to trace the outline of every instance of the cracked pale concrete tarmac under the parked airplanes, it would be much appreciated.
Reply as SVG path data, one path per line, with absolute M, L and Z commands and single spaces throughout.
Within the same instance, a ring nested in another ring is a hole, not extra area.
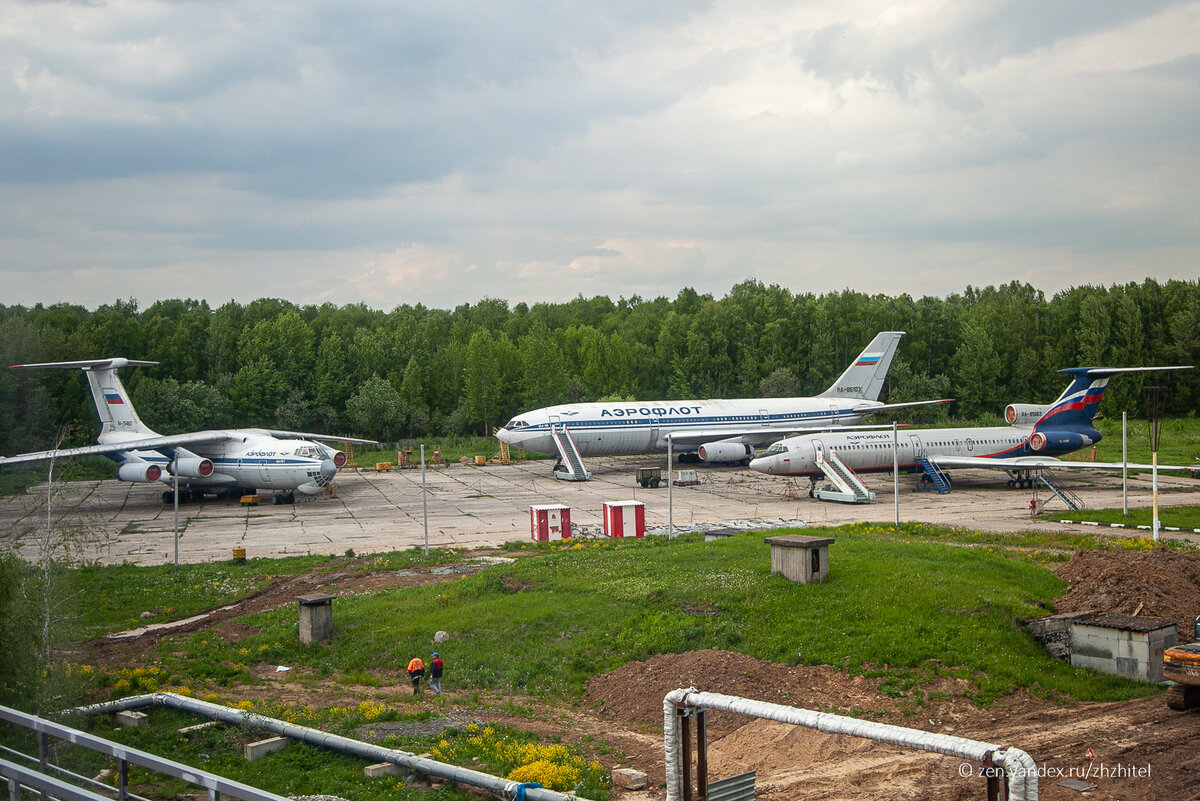
M 659 462 L 664 464 L 665 460 Z M 577 536 L 599 536 L 605 501 L 638 500 L 646 504 L 650 534 L 662 534 L 668 523 L 667 489 L 642 489 L 634 481 L 638 465 L 653 458 L 589 459 L 593 478 L 564 482 L 550 475 L 550 462 L 512 465 L 462 465 L 426 470 L 428 544 L 431 548 L 473 548 L 529 540 L 529 507 L 562 504 L 571 508 Z M 689 465 L 691 466 L 691 465 Z M 895 519 L 889 475 L 866 476 L 877 493 L 875 504 L 844 505 L 808 496 L 808 480 L 763 476 L 746 469 L 696 468 L 698 486 L 672 490 L 672 512 L 678 531 L 708 528 L 772 529 L 842 524 L 892 523 Z M 948 495 L 913 492 L 913 476 L 900 478 L 900 519 L 977 529 L 1015 531 L 1052 526 L 1030 516 L 1032 490 L 1006 489 L 1004 475 L 994 470 L 954 474 Z M 1120 508 L 1121 477 L 1109 474 L 1063 475 L 1066 483 L 1088 508 Z M 1200 480 L 1159 477 L 1160 505 L 1200 505 Z M 47 488 L 31 487 L 24 495 L 0 498 L 0 548 L 16 547 L 26 559 L 43 548 L 70 560 L 102 564 L 156 565 L 174 559 L 174 510 L 161 500 L 162 488 L 118 481 L 58 484 L 50 494 L 53 529 L 66 536 L 47 537 Z M 1046 499 L 1042 489 L 1039 496 Z M 1151 480 L 1130 477 L 1132 508 L 1151 505 Z M 1057 499 L 1050 511 L 1064 508 Z M 1169 523 L 1169 512 L 1163 514 Z M 203 562 L 229 559 L 234 548 L 247 556 L 288 554 L 358 554 L 402 550 L 425 544 L 421 471 L 343 469 L 335 492 L 298 498 L 295 505 L 272 505 L 268 496 L 258 506 L 206 500 L 179 510 L 179 560 Z M 1096 531 L 1096 529 L 1091 529 Z M 1114 536 L 1144 536 L 1120 532 Z M 1187 536 L 1193 535 L 1166 535 Z

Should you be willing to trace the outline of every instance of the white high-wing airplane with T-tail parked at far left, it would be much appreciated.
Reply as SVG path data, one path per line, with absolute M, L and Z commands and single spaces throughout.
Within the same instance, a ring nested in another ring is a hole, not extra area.
M 62 368 L 82 369 L 91 385 L 91 396 L 100 414 L 98 445 L 22 453 L 0 457 L 0 465 L 30 464 L 76 456 L 107 456 L 118 463 L 121 481 L 174 486 L 178 476 L 179 498 L 200 500 L 205 493 L 218 495 L 254 494 L 258 488 L 275 492 L 275 502 L 292 504 L 295 492 L 314 495 L 332 481 L 346 464 L 346 454 L 323 445 L 373 440 L 326 436 L 304 432 L 233 428 L 162 436 L 142 422 L 128 393 L 116 377 L 120 367 L 149 366 L 158 362 L 132 359 L 96 359 L 76 362 L 13 365 L 10 369 Z M 162 494 L 172 502 L 174 492 Z

